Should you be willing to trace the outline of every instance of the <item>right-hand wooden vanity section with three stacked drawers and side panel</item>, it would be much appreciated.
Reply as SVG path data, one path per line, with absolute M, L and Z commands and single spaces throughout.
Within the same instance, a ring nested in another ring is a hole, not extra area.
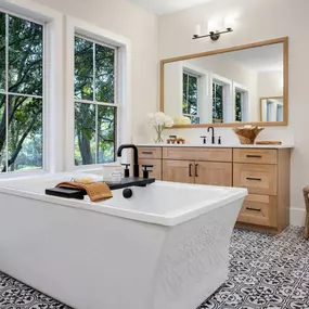
M 234 149 L 233 186 L 248 189 L 237 227 L 273 233 L 289 226 L 289 149 Z

